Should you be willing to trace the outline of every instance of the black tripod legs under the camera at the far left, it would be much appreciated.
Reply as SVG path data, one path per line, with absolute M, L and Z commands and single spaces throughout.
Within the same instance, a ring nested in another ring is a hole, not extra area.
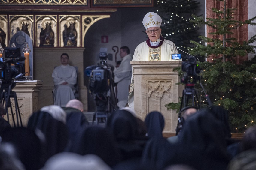
M 16 127 L 16 123 L 14 120 L 14 112 L 12 110 L 12 104 L 11 104 L 11 100 L 10 100 L 10 97 L 14 98 L 17 127 L 23 127 L 22 121 L 21 121 L 21 116 L 20 116 L 20 109 L 19 109 L 19 105 L 18 105 L 17 95 L 16 95 L 15 91 L 12 91 L 12 89 L 15 87 L 15 85 L 16 84 L 14 83 L 13 80 L 11 80 L 11 82 L 2 82 L 1 88 L 0 88 L 0 94 L 1 94 L 0 102 L 2 103 L 3 106 L 5 106 L 4 114 L 7 114 L 8 122 L 9 122 L 8 108 L 10 108 L 13 124 L 14 124 L 14 127 Z M 20 119 L 20 123 L 19 123 L 19 119 Z

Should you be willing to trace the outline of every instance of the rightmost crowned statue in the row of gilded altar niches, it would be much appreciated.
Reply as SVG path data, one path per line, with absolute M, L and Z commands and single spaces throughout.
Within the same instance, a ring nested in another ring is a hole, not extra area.
M 64 25 L 63 43 L 64 46 L 77 46 L 77 31 L 75 29 L 75 22 L 69 23 L 69 28 Z

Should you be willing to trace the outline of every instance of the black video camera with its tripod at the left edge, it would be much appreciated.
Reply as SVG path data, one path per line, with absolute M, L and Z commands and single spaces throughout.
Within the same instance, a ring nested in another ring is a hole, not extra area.
M 5 48 L 5 58 L 0 58 L 0 102 L 5 106 L 5 113 L 7 114 L 7 119 L 9 122 L 9 114 L 8 108 L 11 110 L 11 116 L 13 119 L 14 127 L 16 127 L 14 121 L 14 113 L 11 107 L 10 97 L 14 98 L 15 103 L 15 113 L 17 116 L 17 126 L 19 126 L 19 118 L 20 125 L 22 126 L 22 121 L 20 117 L 20 110 L 17 102 L 17 95 L 12 89 L 15 87 L 16 83 L 14 79 L 20 79 L 24 73 L 24 64 L 20 63 L 20 61 L 24 61 L 25 57 L 20 56 L 20 48 Z M 19 118 L 18 118 L 19 116 Z

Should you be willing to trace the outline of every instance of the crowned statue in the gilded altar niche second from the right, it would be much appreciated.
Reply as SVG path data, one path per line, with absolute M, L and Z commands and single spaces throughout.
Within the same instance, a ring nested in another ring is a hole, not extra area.
M 51 27 L 52 23 L 47 22 L 45 29 L 41 28 L 40 32 L 40 47 L 41 46 L 54 46 L 54 32 Z

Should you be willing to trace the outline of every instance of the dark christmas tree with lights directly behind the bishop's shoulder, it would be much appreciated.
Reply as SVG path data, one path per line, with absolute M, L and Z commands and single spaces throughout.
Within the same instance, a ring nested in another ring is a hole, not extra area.
M 165 0 L 157 1 L 157 13 L 162 20 L 162 35 L 175 43 L 177 48 L 188 52 L 187 47 L 193 47 L 190 40 L 201 43 L 197 24 L 189 22 L 192 13 L 197 12 L 199 2 L 195 0 Z M 179 51 L 182 56 L 186 53 Z

